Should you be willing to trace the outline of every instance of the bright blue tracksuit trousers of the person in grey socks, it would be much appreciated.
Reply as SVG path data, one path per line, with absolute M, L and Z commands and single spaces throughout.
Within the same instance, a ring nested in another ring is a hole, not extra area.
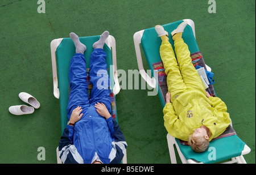
M 109 96 L 110 80 L 105 62 L 106 53 L 103 49 L 94 49 L 90 56 L 90 83 L 93 88 L 91 99 L 88 100 L 88 84 L 86 62 L 84 54 L 76 53 L 71 59 L 69 67 L 69 82 L 71 92 L 68 102 L 68 118 L 73 109 L 82 106 L 82 112 L 92 107 L 97 102 L 104 103 L 111 114 L 111 100 Z

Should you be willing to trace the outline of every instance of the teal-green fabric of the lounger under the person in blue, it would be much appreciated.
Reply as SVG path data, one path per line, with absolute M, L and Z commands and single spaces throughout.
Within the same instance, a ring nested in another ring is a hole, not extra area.
M 80 41 L 86 45 L 86 51 L 84 53 L 86 59 L 86 68 L 90 66 L 90 54 L 93 52 L 93 43 L 100 39 L 100 36 L 88 36 L 79 37 Z M 69 95 L 69 64 L 71 58 L 75 54 L 75 45 L 71 38 L 64 38 L 60 45 L 56 49 L 56 63 L 57 63 L 57 77 L 58 87 L 60 91 L 60 122 L 61 122 L 61 133 L 67 126 L 67 106 L 68 106 L 68 95 Z M 107 54 L 106 63 L 108 65 L 108 73 L 110 75 L 110 65 L 112 65 L 112 52 L 109 47 L 105 44 L 104 51 Z M 113 72 L 112 72 L 113 73 Z M 112 74 L 113 75 L 113 74 Z M 111 87 L 113 88 L 114 79 L 110 77 Z M 117 116 L 116 116 L 117 118 Z

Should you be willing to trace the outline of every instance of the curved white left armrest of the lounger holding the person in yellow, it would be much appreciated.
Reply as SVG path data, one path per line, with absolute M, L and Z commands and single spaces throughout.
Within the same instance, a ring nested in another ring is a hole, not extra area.
M 141 39 L 143 36 L 144 30 L 134 33 L 133 40 L 135 46 L 135 52 L 139 67 L 139 73 L 141 74 L 142 78 L 147 82 L 147 84 L 152 87 L 156 88 L 156 79 L 154 77 L 150 78 L 150 76 L 146 73 L 143 67 L 142 56 L 141 56 L 141 48 L 139 44 L 141 44 Z

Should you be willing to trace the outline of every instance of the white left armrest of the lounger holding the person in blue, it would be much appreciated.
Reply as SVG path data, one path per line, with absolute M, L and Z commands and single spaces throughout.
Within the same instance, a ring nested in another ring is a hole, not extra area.
M 59 99 L 60 91 L 58 88 L 56 49 L 63 39 L 55 39 L 51 41 L 51 56 L 52 56 L 52 77 L 53 77 L 53 95 Z

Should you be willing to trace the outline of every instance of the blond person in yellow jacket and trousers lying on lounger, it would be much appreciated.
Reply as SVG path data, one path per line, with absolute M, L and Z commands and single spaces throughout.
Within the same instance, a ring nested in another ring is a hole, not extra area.
M 193 151 L 204 152 L 210 140 L 222 134 L 231 121 L 225 103 L 205 91 L 192 64 L 188 46 L 182 39 L 186 25 L 185 21 L 171 32 L 177 59 L 168 32 L 161 25 L 155 26 L 162 39 L 160 57 L 168 86 L 163 109 L 164 126 L 170 135 L 188 141 Z

